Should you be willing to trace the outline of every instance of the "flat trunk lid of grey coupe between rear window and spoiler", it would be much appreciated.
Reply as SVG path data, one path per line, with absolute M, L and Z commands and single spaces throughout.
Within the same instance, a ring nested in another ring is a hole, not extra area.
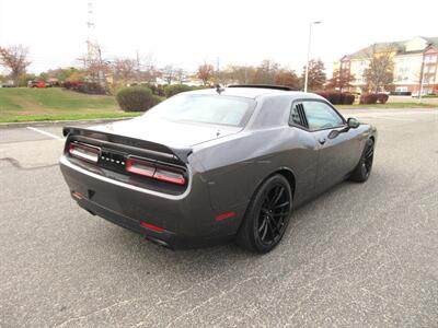
M 193 147 L 223 138 L 242 130 L 241 127 L 222 127 L 204 124 L 175 122 L 161 118 L 134 118 L 91 127 L 93 130 L 147 140 L 174 148 Z

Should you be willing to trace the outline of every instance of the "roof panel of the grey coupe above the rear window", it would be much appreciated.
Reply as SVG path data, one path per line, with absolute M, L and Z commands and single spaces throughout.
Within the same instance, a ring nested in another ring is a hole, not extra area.
M 216 89 L 203 89 L 203 90 L 195 90 L 195 91 L 189 91 L 187 92 L 189 94 L 211 94 L 211 95 L 217 95 L 218 92 Z M 255 99 L 260 96 L 265 96 L 265 95 L 289 95 L 295 98 L 300 98 L 300 97 L 311 97 L 311 98 L 319 98 L 318 95 L 312 94 L 312 93 L 304 93 L 300 91 L 285 91 L 285 90 L 276 90 L 276 89 L 266 89 L 266 87 L 222 87 L 221 95 L 227 95 L 227 96 L 238 96 L 238 97 L 246 97 L 246 98 L 252 98 Z

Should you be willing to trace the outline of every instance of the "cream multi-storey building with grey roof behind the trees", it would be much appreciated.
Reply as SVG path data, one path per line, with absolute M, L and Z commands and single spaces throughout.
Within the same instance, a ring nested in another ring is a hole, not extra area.
M 379 51 L 391 51 L 394 63 L 393 83 L 390 90 L 396 93 L 438 93 L 438 37 L 416 36 L 408 40 L 370 45 L 334 63 L 334 70 L 350 73 L 355 80 L 349 91 L 361 92 L 366 86 L 365 70 L 371 56 Z

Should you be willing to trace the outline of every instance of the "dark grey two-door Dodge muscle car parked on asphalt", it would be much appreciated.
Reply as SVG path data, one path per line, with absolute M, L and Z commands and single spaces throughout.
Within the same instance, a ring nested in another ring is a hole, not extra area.
M 315 94 L 267 86 L 186 92 L 64 134 L 61 171 L 90 213 L 172 248 L 234 238 L 257 253 L 303 201 L 366 181 L 377 138 Z

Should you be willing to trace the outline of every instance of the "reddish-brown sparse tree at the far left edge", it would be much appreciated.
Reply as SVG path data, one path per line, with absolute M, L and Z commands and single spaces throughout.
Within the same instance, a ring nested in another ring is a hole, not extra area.
M 25 73 L 26 68 L 31 65 L 27 60 L 28 48 L 22 45 L 11 47 L 0 47 L 0 65 L 11 71 L 11 79 L 18 85 L 20 75 Z

